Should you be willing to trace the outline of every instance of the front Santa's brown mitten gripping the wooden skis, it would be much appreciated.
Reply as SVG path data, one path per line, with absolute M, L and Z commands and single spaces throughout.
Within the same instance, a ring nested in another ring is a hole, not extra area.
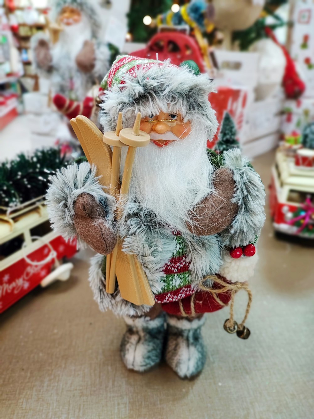
M 95 198 L 90 194 L 80 194 L 75 201 L 74 212 L 74 226 L 80 238 L 102 255 L 111 253 L 117 236 Z

